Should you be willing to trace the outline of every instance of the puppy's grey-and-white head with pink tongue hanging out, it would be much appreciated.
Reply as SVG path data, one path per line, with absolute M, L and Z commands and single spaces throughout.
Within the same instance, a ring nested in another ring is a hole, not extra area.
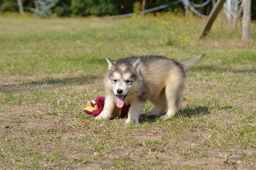
M 108 62 L 108 89 L 116 95 L 116 106 L 122 108 L 127 95 L 137 91 L 140 60 L 134 62 L 116 62 L 106 58 Z

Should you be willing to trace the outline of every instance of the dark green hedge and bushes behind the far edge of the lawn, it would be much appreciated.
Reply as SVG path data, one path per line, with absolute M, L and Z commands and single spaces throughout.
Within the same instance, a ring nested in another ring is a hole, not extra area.
M 54 0 L 22 0 L 24 11 L 35 12 L 38 3 L 51 2 Z M 147 0 L 146 9 L 154 8 L 166 3 L 173 2 L 175 0 Z M 193 0 L 194 3 L 204 3 L 205 0 Z M 182 3 L 169 6 L 165 9 L 159 10 L 159 12 L 169 12 L 177 10 L 184 12 Z M 197 10 L 203 14 L 209 14 L 212 9 L 212 3 L 207 6 L 198 8 Z M 51 8 L 40 9 L 38 15 L 49 16 L 55 14 L 57 16 L 88 16 L 88 15 L 116 15 L 136 12 L 137 14 L 141 10 L 141 0 L 59 0 Z M 18 12 L 17 0 L 0 0 L 0 13 L 3 12 Z M 256 19 L 256 1 L 252 0 L 251 9 L 252 19 Z M 37 14 L 36 13 L 36 14 Z

